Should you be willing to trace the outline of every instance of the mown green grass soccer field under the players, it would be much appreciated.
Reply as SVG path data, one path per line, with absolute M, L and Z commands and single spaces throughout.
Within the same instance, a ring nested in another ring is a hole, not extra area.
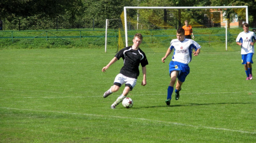
M 170 106 L 171 56 L 162 63 L 165 53 L 145 53 L 147 85 L 140 85 L 141 74 L 128 95 L 134 106 L 111 109 L 123 86 L 102 96 L 123 61 L 101 69 L 115 51 L 1 50 L 0 142 L 255 142 L 256 66 L 246 81 L 240 52 L 193 57 Z

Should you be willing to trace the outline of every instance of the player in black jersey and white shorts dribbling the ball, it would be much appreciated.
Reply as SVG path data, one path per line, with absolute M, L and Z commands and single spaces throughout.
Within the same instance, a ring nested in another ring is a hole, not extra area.
M 120 73 L 116 76 L 113 86 L 111 86 L 110 89 L 103 94 L 103 98 L 106 98 L 113 92 L 117 92 L 121 85 L 125 83 L 125 87 L 121 96 L 119 96 L 117 100 L 111 105 L 112 109 L 115 109 L 116 106 L 123 101 L 127 94 L 133 90 L 140 74 L 140 64 L 142 66 L 143 74 L 141 85 L 146 85 L 146 65 L 148 64 L 148 61 L 145 53 L 139 47 L 139 45 L 142 43 L 142 38 L 143 37 L 140 33 L 136 33 L 133 38 L 133 45 L 121 49 L 109 62 L 109 64 L 102 68 L 102 71 L 105 72 L 106 69 L 108 69 L 120 58 L 124 60 L 123 67 L 121 68 Z

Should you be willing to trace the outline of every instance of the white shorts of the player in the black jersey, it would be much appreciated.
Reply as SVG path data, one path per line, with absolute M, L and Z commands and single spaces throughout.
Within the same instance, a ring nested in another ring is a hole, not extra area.
M 125 83 L 125 86 L 129 86 L 133 90 L 136 85 L 137 79 L 126 77 L 122 74 L 118 74 L 115 78 L 114 85 L 121 87 Z

